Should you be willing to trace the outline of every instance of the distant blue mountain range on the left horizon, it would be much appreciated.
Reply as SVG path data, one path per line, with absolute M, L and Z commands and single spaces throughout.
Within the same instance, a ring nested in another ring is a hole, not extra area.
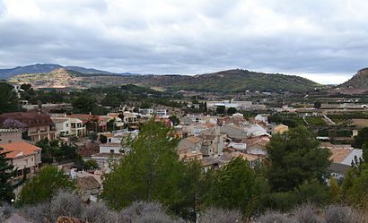
M 107 71 L 97 70 L 93 68 L 85 68 L 82 66 L 67 65 L 63 66 L 60 64 L 31 64 L 25 66 L 17 66 L 9 69 L 0 69 L 0 79 L 8 79 L 14 75 L 24 74 L 24 73 L 48 73 L 57 68 L 65 68 L 66 70 L 71 70 L 79 73 L 87 74 L 114 74 Z M 130 75 L 133 73 L 115 73 L 119 75 Z

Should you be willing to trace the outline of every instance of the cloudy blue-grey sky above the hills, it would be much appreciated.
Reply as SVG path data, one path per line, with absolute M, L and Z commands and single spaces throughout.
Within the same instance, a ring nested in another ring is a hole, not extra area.
M 366 0 L 0 0 L 0 68 L 241 68 L 347 81 L 368 66 Z

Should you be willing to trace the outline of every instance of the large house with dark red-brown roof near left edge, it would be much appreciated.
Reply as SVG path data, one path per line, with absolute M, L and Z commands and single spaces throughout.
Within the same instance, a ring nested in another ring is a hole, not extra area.
M 56 139 L 56 128 L 50 116 L 41 112 L 12 112 L 0 115 L 0 124 L 5 129 L 22 129 L 25 138 L 39 142 Z

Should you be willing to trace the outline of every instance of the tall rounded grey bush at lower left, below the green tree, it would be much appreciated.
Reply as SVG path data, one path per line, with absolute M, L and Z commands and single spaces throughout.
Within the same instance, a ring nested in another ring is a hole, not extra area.
M 60 216 L 80 218 L 83 213 L 83 202 L 75 193 L 60 190 L 50 203 L 51 219 L 57 220 Z

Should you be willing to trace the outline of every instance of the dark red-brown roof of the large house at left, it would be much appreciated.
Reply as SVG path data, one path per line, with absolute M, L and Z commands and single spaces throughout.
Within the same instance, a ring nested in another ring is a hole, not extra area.
M 0 124 L 3 124 L 6 119 L 14 119 L 26 124 L 27 127 L 52 125 L 53 122 L 45 113 L 39 112 L 11 112 L 0 115 Z

